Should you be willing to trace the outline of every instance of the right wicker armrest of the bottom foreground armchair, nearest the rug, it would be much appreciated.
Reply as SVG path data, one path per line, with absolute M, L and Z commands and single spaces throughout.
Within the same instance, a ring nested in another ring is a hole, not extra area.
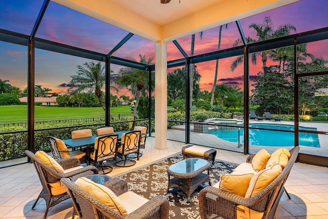
M 169 218 L 169 201 L 160 195 L 155 196 L 149 202 L 142 205 L 140 208 L 131 212 L 125 218 L 131 219 L 142 219 L 142 218 Z M 156 214 L 156 212 L 160 212 L 160 214 Z M 153 213 L 152 213 L 153 212 Z M 150 215 L 154 215 L 150 217 Z M 158 217 L 160 215 L 160 217 Z

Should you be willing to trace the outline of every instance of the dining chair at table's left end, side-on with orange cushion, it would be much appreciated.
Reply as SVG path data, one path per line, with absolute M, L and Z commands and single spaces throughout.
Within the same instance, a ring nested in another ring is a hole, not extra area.
M 81 150 L 73 150 L 69 151 L 69 149 L 66 147 L 63 140 L 48 136 L 48 139 L 50 141 L 50 145 L 52 148 L 52 154 L 55 159 L 63 159 L 63 158 L 70 158 L 75 157 L 77 158 L 81 163 L 86 163 L 86 152 Z

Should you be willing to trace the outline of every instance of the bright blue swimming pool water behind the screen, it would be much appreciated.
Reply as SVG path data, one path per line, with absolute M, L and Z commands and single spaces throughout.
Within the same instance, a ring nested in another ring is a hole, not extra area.
M 251 124 L 250 127 L 272 128 L 278 130 L 294 130 L 294 125 Z M 317 130 L 316 128 L 299 127 L 301 130 Z M 212 135 L 220 139 L 238 143 L 238 129 L 219 130 Z M 250 145 L 258 146 L 294 146 L 294 133 L 272 130 L 250 129 Z M 240 128 L 240 142 L 243 141 L 243 128 Z M 320 147 L 318 134 L 299 133 L 299 145 Z

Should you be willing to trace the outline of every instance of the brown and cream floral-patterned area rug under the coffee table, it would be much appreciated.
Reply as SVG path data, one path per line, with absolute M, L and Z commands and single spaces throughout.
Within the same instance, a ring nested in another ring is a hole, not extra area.
M 182 159 L 182 154 L 178 154 L 149 166 L 122 174 L 118 178 L 128 183 L 129 190 L 147 199 L 152 199 L 156 195 L 165 196 L 170 201 L 170 218 L 200 218 L 198 192 L 205 186 L 208 186 L 208 183 L 203 183 L 192 193 L 190 203 L 187 202 L 187 195 L 179 189 L 170 189 L 169 193 L 167 193 L 167 168 Z M 210 168 L 212 185 L 219 181 L 222 174 L 232 172 L 237 166 L 238 164 L 235 163 L 215 160 L 215 164 Z

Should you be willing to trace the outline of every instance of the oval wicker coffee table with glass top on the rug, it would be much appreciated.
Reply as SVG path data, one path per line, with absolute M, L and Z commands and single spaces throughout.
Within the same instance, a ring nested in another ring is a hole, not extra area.
M 201 158 L 187 158 L 168 167 L 170 188 L 178 188 L 187 194 L 187 201 L 195 189 L 204 182 L 210 181 L 210 162 Z M 207 174 L 203 171 L 207 170 Z

